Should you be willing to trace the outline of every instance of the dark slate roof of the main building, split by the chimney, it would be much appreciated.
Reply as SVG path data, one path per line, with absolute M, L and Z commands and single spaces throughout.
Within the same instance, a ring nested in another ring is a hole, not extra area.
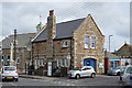
M 82 23 L 84 20 L 85 18 L 57 23 L 56 24 L 56 37 L 54 40 L 72 37 L 73 32 L 77 30 L 77 28 Z M 34 38 L 32 42 L 46 41 L 46 38 L 47 38 L 47 28 L 43 30 L 42 33 L 36 38 Z

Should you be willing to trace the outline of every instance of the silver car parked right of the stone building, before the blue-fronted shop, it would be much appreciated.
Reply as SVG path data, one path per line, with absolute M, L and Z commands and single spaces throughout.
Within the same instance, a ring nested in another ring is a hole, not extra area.
M 111 68 L 107 72 L 108 75 L 117 75 L 120 76 L 120 73 L 125 69 L 125 66 L 118 66 L 116 68 Z

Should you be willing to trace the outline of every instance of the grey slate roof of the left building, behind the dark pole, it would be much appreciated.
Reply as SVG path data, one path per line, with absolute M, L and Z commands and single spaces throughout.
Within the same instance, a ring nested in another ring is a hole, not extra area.
M 35 33 L 16 34 L 16 47 L 25 47 L 31 44 L 31 40 L 35 36 Z M 13 42 L 14 35 L 9 35 L 2 40 L 2 48 L 10 48 L 10 44 Z

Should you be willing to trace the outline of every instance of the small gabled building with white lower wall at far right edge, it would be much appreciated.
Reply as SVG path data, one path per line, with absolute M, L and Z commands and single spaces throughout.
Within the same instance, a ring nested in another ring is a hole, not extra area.
M 124 43 L 116 54 L 121 58 L 121 65 L 132 65 L 132 45 Z

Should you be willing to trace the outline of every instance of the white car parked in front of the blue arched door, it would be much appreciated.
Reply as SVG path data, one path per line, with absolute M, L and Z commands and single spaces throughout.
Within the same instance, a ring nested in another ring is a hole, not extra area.
M 69 78 L 77 78 L 79 79 L 80 77 L 96 77 L 96 72 L 91 66 L 84 66 L 81 68 L 75 68 L 74 70 L 69 70 L 68 73 Z

